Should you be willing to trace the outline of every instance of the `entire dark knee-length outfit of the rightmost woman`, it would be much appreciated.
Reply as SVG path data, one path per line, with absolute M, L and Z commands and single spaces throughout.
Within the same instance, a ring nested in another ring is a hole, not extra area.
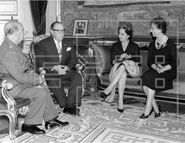
M 163 73 L 158 73 L 151 67 L 152 64 L 161 64 L 162 66 L 169 64 L 172 68 Z M 150 43 L 148 66 L 149 70 L 141 76 L 142 86 L 147 86 L 157 92 L 173 88 L 173 80 L 177 73 L 177 49 L 172 39 L 168 39 L 160 49 L 156 48 L 155 41 Z

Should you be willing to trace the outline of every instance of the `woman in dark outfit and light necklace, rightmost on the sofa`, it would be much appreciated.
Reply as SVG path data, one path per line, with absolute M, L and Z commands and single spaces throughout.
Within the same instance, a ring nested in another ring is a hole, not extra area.
M 155 118 L 161 115 L 155 100 L 155 93 L 172 89 L 173 79 L 176 78 L 177 51 L 175 43 L 166 36 L 167 23 L 157 17 L 151 21 L 153 40 L 148 49 L 149 70 L 142 75 L 142 86 L 147 96 L 147 102 L 141 119 L 148 118 L 151 111 Z

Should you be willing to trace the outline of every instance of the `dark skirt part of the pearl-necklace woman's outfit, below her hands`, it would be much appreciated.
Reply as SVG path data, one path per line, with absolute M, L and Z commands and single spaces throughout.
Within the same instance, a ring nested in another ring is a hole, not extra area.
M 147 86 L 156 92 L 172 89 L 174 78 L 175 75 L 172 70 L 159 74 L 157 71 L 150 69 L 141 76 L 142 86 Z

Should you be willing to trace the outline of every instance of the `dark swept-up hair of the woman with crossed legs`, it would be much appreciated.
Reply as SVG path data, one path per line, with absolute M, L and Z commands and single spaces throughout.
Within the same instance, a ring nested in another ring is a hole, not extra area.
M 125 29 L 125 32 L 127 35 L 129 35 L 129 39 L 132 39 L 132 34 L 133 34 L 133 26 L 130 22 L 123 22 L 120 21 L 118 25 L 118 33 L 120 29 Z

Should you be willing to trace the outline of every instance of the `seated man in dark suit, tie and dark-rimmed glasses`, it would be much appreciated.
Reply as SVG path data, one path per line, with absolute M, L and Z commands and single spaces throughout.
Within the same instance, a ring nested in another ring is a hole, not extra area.
M 75 70 L 77 58 L 73 42 L 64 39 L 64 26 L 54 22 L 50 27 L 51 36 L 35 45 L 36 67 L 46 70 L 46 82 L 54 93 L 63 112 L 78 115 L 82 98 L 82 79 Z M 64 81 L 70 81 L 66 96 Z

